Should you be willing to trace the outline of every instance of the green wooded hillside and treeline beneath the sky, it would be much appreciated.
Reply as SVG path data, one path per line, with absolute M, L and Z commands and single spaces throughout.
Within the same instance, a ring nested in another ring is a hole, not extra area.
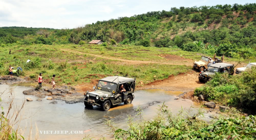
M 181 48 L 232 58 L 256 57 L 256 4 L 172 7 L 97 21 L 75 29 L 2 27 L 0 45 L 109 44 Z

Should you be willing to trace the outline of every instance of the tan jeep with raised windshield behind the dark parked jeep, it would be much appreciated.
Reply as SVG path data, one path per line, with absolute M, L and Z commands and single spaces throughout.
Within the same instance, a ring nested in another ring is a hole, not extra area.
M 215 63 L 221 63 L 223 62 L 223 59 L 224 59 L 224 56 L 221 58 L 222 60 L 219 60 L 217 57 L 216 57 L 216 53 L 213 57 L 213 62 Z M 201 57 L 201 60 L 199 61 L 194 61 L 194 65 L 193 65 L 193 68 L 195 69 L 198 69 L 200 72 L 204 72 L 204 69 L 207 69 L 208 68 L 208 64 L 210 62 L 210 57 L 207 57 L 207 56 L 202 56 Z

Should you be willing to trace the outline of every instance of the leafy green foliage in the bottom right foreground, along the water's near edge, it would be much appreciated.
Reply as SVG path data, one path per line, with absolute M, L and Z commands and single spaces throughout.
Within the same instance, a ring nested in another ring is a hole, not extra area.
M 115 139 L 140 139 L 140 140 L 168 140 L 168 139 L 255 139 L 255 116 L 247 117 L 233 115 L 226 118 L 213 120 L 206 123 L 195 119 L 202 115 L 202 111 L 192 116 L 191 108 L 187 111 L 181 110 L 177 115 L 173 115 L 168 107 L 163 103 L 159 106 L 157 116 L 150 121 L 142 121 L 142 109 L 136 109 L 139 121 L 134 121 L 131 116 L 128 118 L 127 130 L 116 128 L 113 122 L 107 120 L 110 129 L 114 133 Z

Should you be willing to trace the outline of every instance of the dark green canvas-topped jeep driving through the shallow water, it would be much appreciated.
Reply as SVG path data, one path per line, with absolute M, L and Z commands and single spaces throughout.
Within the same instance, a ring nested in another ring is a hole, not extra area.
M 85 107 L 100 106 L 104 111 L 109 110 L 111 106 L 124 103 L 131 104 L 134 99 L 136 78 L 121 76 L 110 76 L 100 79 L 97 86 L 93 87 L 93 92 L 84 94 Z M 125 92 L 120 92 L 121 86 L 124 86 Z

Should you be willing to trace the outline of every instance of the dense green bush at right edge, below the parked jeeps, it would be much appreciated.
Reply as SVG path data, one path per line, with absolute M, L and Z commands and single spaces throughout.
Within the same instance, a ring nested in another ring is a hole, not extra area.
M 216 73 L 210 82 L 195 90 L 195 95 L 255 113 L 255 78 L 256 67 L 235 76 Z

